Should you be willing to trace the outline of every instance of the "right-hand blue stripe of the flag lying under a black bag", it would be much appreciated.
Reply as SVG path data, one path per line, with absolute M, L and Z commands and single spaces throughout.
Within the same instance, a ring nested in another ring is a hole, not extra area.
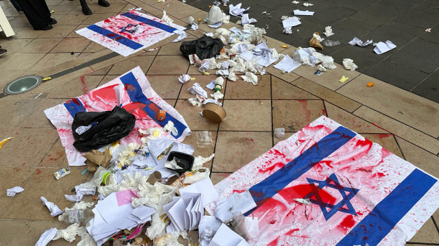
M 157 119 L 157 112 L 154 112 L 151 110 L 149 105 L 154 105 L 154 108 L 158 108 L 158 110 L 161 110 L 162 108 L 158 107 L 156 103 L 150 101 L 150 99 L 147 99 L 147 97 L 143 94 L 142 88 L 139 85 L 139 82 L 137 82 L 136 77 L 132 74 L 132 72 L 127 73 L 126 75 L 123 75 L 121 77 L 121 82 L 125 85 L 126 92 L 128 93 L 128 96 L 130 97 L 131 101 L 133 103 L 139 102 L 145 104 L 145 108 L 142 108 L 143 111 L 147 113 L 148 116 L 151 117 L 158 125 L 161 125 L 161 127 L 164 127 L 168 121 L 172 121 L 174 123 L 174 127 L 177 128 L 178 134 L 174 135 L 171 134 L 171 136 L 174 136 L 174 138 L 179 138 L 183 132 L 185 132 L 187 126 L 175 119 L 171 114 L 168 114 L 166 112 L 166 118 L 165 121 L 158 121 Z M 132 87 L 130 87 L 132 86 Z M 127 88 L 129 87 L 129 88 Z

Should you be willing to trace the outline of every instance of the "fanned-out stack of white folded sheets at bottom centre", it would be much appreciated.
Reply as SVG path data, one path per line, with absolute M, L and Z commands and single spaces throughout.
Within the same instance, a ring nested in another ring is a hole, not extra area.
M 185 193 L 181 197 L 163 206 L 171 224 L 166 232 L 180 232 L 193 230 L 198 227 L 201 217 L 204 215 L 203 202 L 200 193 Z

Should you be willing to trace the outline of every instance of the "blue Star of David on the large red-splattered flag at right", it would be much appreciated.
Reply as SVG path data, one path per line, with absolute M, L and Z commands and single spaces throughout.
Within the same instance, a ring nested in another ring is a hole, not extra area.
M 311 193 L 304 197 L 304 199 L 309 199 L 312 204 L 320 206 L 324 219 L 330 219 L 336 212 L 346 212 L 348 214 L 357 215 L 357 212 L 355 212 L 355 209 L 351 204 L 351 199 L 358 193 L 359 189 L 341 186 L 335 173 L 331 174 L 327 180 L 319 181 L 310 178 L 307 178 L 307 180 L 309 184 L 311 184 L 312 190 Z M 318 184 L 318 186 L 312 184 Z M 343 197 L 342 200 L 337 204 L 329 204 L 322 201 L 322 197 L 319 195 L 319 190 L 325 186 L 340 191 L 340 194 L 342 194 Z

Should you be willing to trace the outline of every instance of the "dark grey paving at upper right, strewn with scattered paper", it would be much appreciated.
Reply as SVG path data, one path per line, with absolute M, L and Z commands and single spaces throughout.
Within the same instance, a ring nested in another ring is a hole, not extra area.
M 257 19 L 257 27 L 266 28 L 267 36 L 296 47 L 308 47 L 314 32 L 324 36 L 324 27 L 331 26 L 341 45 L 324 47 L 322 53 L 342 64 L 351 58 L 358 71 L 389 84 L 411 91 L 421 97 L 439 102 L 439 1 L 434 0 L 232 0 L 250 7 L 246 13 Z M 303 3 L 313 3 L 305 7 Z M 196 8 L 209 11 L 211 0 L 187 0 Z M 219 5 L 228 14 L 228 7 Z M 313 16 L 298 16 L 301 25 L 293 34 L 282 33 L 282 16 L 294 16 L 293 10 L 314 11 Z M 262 14 L 267 12 L 267 14 Z M 237 17 L 231 16 L 236 22 Z M 270 18 L 271 17 L 271 18 Z M 425 29 L 432 28 L 431 33 Z M 299 29 L 300 32 L 296 32 Z M 378 55 L 372 45 L 348 45 L 354 37 L 374 42 L 391 40 L 396 49 Z

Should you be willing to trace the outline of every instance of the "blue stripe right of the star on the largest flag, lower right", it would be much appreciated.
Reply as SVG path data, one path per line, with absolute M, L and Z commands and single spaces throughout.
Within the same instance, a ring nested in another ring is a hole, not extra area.
M 414 169 L 337 245 L 377 245 L 436 181 L 427 173 Z

